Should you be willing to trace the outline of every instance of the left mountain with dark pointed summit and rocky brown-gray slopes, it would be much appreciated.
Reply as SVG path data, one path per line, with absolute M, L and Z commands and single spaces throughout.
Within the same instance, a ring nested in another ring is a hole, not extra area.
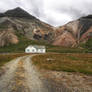
M 52 42 L 53 27 L 19 7 L 0 13 L 0 46 L 17 44 L 21 36 L 30 40 Z

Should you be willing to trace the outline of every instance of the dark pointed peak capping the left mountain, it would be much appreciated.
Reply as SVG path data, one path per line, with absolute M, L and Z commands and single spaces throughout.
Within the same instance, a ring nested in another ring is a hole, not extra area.
M 12 10 L 8 10 L 5 13 L 1 13 L 0 17 L 18 17 L 18 18 L 30 18 L 30 19 L 35 18 L 34 16 L 30 15 L 28 12 L 26 12 L 20 7 L 17 7 Z

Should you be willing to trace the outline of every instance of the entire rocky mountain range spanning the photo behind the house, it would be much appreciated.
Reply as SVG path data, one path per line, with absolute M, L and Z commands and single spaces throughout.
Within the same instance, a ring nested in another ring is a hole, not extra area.
M 22 39 L 43 41 L 56 46 L 76 47 L 92 37 L 92 15 L 60 27 L 53 27 L 21 8 L 0 13 L 0 47 L 18 44 Z

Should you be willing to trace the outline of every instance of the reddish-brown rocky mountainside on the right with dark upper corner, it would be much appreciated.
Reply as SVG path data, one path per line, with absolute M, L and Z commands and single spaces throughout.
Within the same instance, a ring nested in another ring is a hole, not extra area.
M 92 15 L 81 17 L 56 29 L 53 45 L 74 47 L 92 37 Z

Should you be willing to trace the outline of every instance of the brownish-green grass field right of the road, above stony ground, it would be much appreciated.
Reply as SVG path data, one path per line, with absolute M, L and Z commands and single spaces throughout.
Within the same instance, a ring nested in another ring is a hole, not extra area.
M 33 58 L 40 69 L 53 71 L 79 72 L 92 75 L 91 54 L 44 54 Z

